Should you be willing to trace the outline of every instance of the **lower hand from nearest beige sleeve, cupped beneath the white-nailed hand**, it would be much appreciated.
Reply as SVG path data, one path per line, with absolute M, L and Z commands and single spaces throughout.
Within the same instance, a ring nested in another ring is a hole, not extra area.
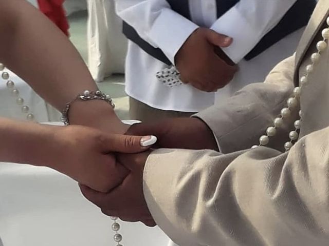
M 119 217 L 123 221 L 141 221 L 154 227 L 152 215 L 143 194 L 143 171 L 150 152 L 140 154 L 118 154 L 121 165 L 130 173 L 121 185 L 109 193 L 96 192 L 80 185 L 82 194 L 108 216 Z

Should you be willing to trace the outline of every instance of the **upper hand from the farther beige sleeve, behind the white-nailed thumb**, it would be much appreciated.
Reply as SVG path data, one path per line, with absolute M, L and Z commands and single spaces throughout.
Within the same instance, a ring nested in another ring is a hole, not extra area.
M 130 127 L 130 135 L 149 135 L 158 138 L 156 147 L 174 149 L 218 150 L 213 132 L 199 118 L 169 118 Z

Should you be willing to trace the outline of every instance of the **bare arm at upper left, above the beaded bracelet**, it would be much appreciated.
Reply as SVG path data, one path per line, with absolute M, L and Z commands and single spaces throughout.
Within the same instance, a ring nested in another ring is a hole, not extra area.
M 0 0 L 0 32 L 0 61 L 57 109 L 97 88 L 68 38 L 25 0 Z

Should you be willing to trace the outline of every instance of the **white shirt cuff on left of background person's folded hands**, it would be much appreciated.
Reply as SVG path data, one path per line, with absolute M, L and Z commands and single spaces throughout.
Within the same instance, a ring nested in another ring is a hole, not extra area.
M 176 53 L 197 28 L 196 24 L 184 16 L 171 9 L 163 9 L 152 25 L 149 37 L 175 64 Z

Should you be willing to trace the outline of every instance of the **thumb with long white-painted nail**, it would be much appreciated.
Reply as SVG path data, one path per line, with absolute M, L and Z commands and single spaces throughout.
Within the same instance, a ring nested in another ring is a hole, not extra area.
M 120 153 L 139 153 L 148 150 L 157 141 L 155 136 L 130 136 L 112 134 L 102 141 L 104 151 Z

